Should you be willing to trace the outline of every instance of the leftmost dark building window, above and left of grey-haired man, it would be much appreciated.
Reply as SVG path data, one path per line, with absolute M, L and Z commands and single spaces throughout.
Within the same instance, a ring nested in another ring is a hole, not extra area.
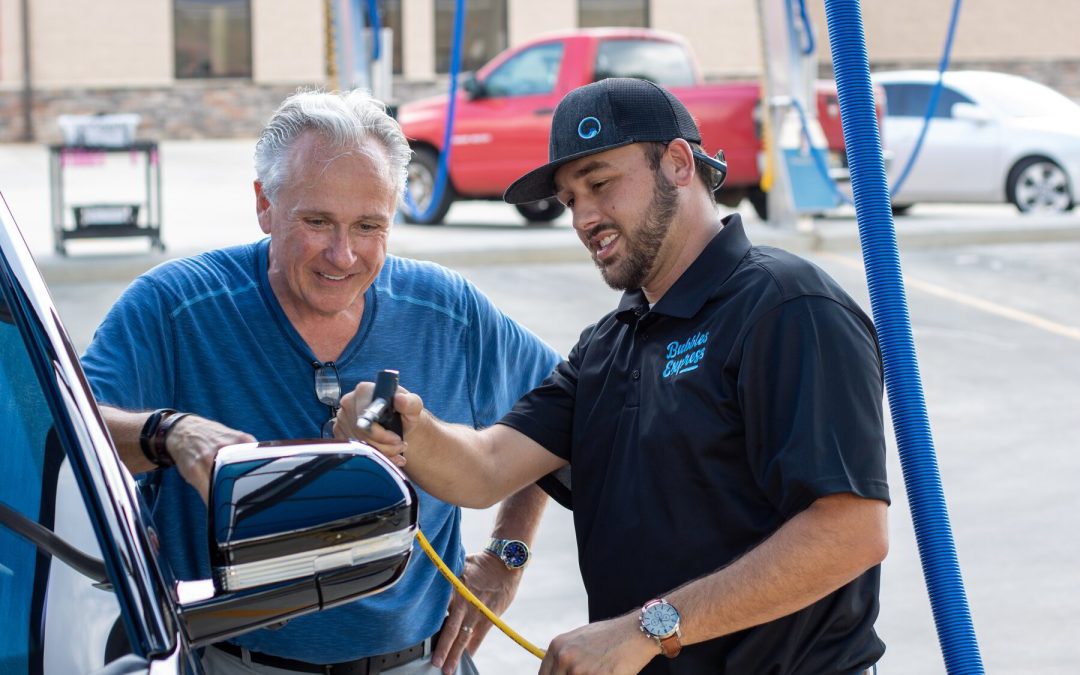
M 252 77 L 251 0 L 174 0 L 176 77 Z

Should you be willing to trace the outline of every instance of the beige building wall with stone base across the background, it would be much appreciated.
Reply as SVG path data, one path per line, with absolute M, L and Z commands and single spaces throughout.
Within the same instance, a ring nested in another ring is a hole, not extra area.
M 335 0 L 340 2 L 341 0 Z M 708 79 L 756 77 L 759 0 L 650 0 L 653 28 L 685 36 Z M 780 0 L 764 0 L 780 1 Z M 578 23 L 577 0 L 507 0 L 510 43 Z M 808 10 L 831 69 L 822 0 Z M 0 140 L 24 135 L 21 0 L 0 1 Z M 951 2 L 864 2 L 872 68 L 936 67 Z M 252 0 L 253 77 L 174 78 L 173 0 L 30 0 L 33 137 L 58 139 L 63 113 L 138 112 L 150 138 L 255 134 L 281 98 L 325 85 L 324 0 Z M 445 91 L 436 76 L 434 0 L 403 0 L 404 73 L 394 103 Z M 1080 98 L 1080 2 L 962 5 L 954 68 L 1016 72 Z

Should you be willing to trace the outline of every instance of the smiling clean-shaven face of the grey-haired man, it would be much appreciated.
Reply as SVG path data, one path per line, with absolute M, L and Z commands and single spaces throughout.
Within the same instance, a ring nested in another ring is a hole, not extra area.
M 270 286 L 298 328 L 359 324 L 397 206 L 386 150 L 369 140 L 346 151 L 307 132 L 287 162 L 273 202 L 255 185 L 259 226 L 271 238 Z

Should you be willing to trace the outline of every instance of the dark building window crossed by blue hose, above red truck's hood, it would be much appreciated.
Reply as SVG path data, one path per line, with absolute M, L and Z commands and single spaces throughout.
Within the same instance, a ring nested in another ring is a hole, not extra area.
M 435 0 L 435 71 L 449 72 L 454 43 L 454 0 Z M 461 70 L 476 70 L 507 49 L 507 0 L 465 3 Z

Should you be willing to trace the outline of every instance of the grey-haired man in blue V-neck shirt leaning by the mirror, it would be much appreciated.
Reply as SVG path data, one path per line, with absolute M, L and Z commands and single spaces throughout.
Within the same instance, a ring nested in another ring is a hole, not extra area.
M 330 435 L 341 392 L 384 367 L 429 392 L 441 416 L 487 426 L 557 362 L 458 274 L 387 254 L 409 154 L 363 93 L 289 97 L 255 151 L 269 237 L 144 274 L 98 328 L 83 364 L 125 464 L 159 474 L 154 519 L 179 578 L 210 576 L 204 500 L 222 445 Z M 495 537 L 528 542 L 544 501 L 536 488 L 509 500 Z M 487 554 L 465 563 L 459 523 L 457 508 L 420 495 L 440 554 L 504 608 L 521 570 Z M 449 673 L 480 633 L 457 603 L 444 625 L 449 599 L 417 556 L 382 594 L 234 638 L 204 662 L 216 673 Z

